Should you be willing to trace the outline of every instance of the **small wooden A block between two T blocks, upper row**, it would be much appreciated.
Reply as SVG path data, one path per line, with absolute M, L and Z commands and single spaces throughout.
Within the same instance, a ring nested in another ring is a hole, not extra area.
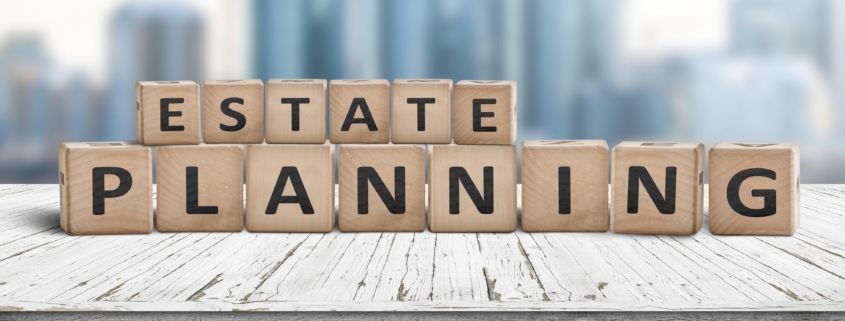
M 390 83 L 386 79 L 332 80 L 329 91 L 332 143 L 390 141 Z

